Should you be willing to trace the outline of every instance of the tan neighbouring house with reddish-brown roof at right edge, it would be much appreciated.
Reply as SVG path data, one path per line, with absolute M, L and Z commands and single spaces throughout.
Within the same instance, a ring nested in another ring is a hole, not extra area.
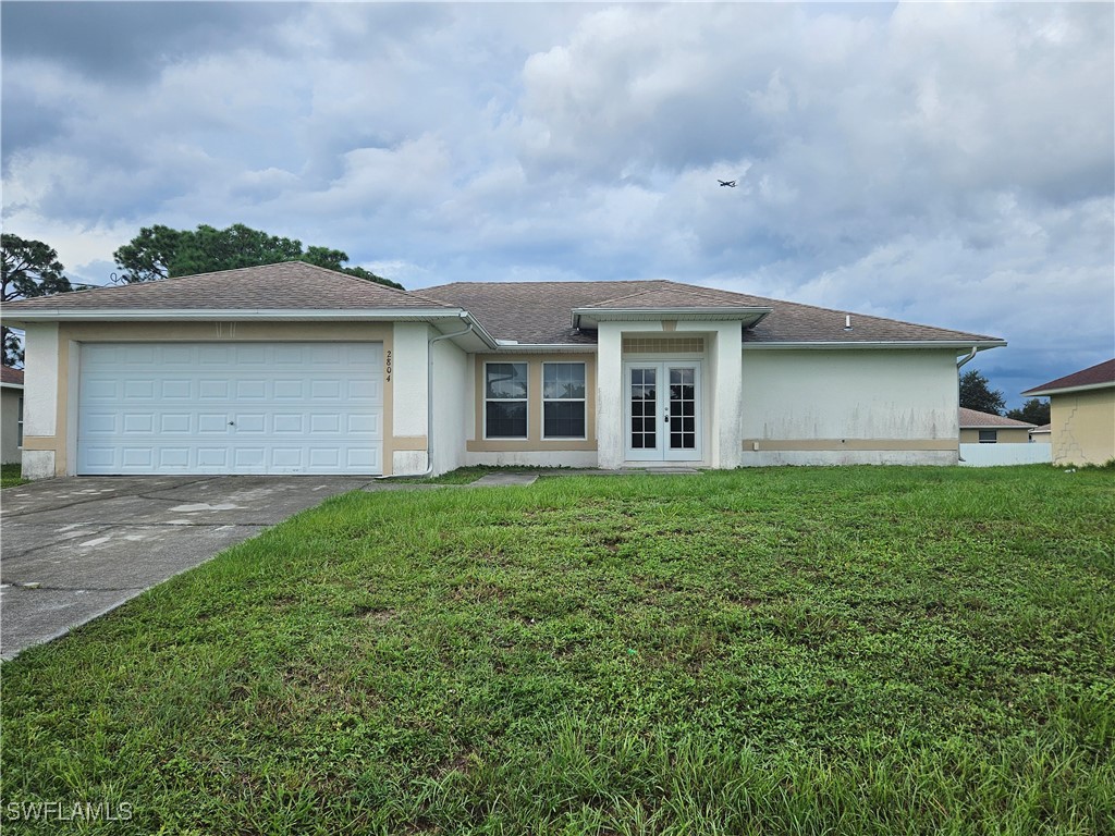
M 1055 465 L 1102 465 L 1115 459 L 1115 359 L 1022 395 L 1049 398 Z

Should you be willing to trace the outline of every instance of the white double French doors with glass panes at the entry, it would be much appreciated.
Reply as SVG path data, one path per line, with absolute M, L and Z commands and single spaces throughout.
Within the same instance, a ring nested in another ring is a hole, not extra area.
M 699 361 L 624 363 L 623 387 L 628 460 L 700 460 Z

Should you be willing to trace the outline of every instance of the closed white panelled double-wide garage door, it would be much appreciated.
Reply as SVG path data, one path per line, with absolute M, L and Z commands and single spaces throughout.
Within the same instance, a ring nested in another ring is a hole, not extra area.
M 379 474 L 381 343 L 86 343 L 79 474 Z

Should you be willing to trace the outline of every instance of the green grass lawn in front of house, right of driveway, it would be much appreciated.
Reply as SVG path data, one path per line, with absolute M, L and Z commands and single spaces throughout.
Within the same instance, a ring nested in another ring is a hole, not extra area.
M 0 816 L 1112 834 L 1113 543 L 1041 466 L 348 494 L 4 663 Z

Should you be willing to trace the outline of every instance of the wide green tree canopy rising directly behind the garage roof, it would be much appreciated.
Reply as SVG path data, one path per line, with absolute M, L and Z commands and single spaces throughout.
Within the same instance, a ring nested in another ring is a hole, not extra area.
M 128 283 L 283 261 L 304 261 L 377 284 L 403 289 L 401 284 L 363 268 L 345 266 L 348 254 L 340 250 L 324 246 L 303 250 L 301 241 L 269 235 L 244 224 L 233 224 L 226 230 L 205 224 L 193 231 L 172 230 L 162 225 L 144 227 L 132 241 L 113 253 L 113 257 L 124 271 L 120 278 Z

